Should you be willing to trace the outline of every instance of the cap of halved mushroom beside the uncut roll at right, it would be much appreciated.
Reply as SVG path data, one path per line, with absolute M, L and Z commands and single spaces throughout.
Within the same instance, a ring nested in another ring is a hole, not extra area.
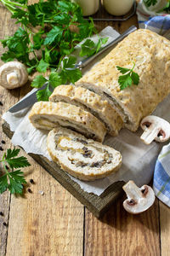
M 164 143 L 170 138 L 170 124 L 155 115 L 146 116 L 140 123 L 140 127 L 144 131 L 154 131 L 154 139 L 157 142 Z M 142 138 L 142 137 L 141 137 Z

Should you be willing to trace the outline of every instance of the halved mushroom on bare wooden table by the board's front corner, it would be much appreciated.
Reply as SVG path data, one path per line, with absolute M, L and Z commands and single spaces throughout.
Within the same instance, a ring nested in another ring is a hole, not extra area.
M 146 211 L 156 199 L 150 186 L 144 185 L 139 188 L 132 180 L 126 183 L 122 189 L 127 194 L 127 200 L 123 201 L 123 207 L 127 212 L 133 214 Z

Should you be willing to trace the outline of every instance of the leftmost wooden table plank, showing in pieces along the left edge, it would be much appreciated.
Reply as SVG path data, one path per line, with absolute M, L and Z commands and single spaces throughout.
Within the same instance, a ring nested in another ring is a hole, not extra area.
M 3 8 L 2 4 L 0 5 L 0 38 L 3 39 L 6 35 L 11 35 L 14 31 L 14 23 L 10 23 L 10 14 L 8 10 Z M 10 25 L 10 26 L 9 26 Z M 3 45 L 0 44 L 0 55 L 3 54 Z M 3 64 L 3 61 L 0 60 L 0 66 Z M 13 90 L 11 93 L 9 90 L 4 89 L 0 86 L 0 101 L 3 103 L 3 106 L 0 106 L 0 116 L 10 107 L 11 104 L 14 105 L 19 99 L 20 90 Z M 7 99 L 10 98 L 10 101 Z M 2 127 L 3 120 L 0 119 L 0 126 Z M 0 146 L 5 150 L 11 146 L 8 138 L 3 134 L 2 128 L 0 128 Z M 2 144 L 1 141 L 4 140 L 6 144 Z M 0 151 L 0 156 L 3 156 L 3 151 Z M 6 244 L 7 244 L 7 235 L 8 235 L 8 226 L 3 225 L 3 223 L 8 224 L 9 216 L 9 205 L 10 205 L 10 194 L 7 192 L 0 195 L 0 212 L 3 212 L 3 216 L 0 216 L 0 255 L 3 256 L 6 253 Z

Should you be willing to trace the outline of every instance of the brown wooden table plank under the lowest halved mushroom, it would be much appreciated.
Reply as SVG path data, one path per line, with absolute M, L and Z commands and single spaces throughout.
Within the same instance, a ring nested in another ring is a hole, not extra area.
M 87 210 L 84 255 L 160 255 L 158 212 L 157 200 L 153 207 L 139 215 L 127 213 L 122 200 L 100 220 Z

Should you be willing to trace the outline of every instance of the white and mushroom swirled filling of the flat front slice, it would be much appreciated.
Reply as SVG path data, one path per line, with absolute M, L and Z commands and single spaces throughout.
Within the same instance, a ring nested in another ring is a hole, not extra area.
M 96 147 L 93 143 L 87 143 L 80 138 L 71 138 L 66 134 L 56 134 L 54 137 L 54 142 L 57 150 L 67 151 L 70 153 L 68 160 L 76 167 L 83 168 L 88 166 L 91 168 L 101 168 L 106 164 L 111 164 L 111 160 L 113 159 L 113 155 L 107 150 Z M 71 144 L 71 142 L 73 143 Z M 76 146 L 75 142 L 77 142 Z M 86 144 L 86 146 L 84 146 L 84 144 Z M 90 146 L 90 149 L 88 146 Z M 100 160 L 96 160 L 97 153 L 102 155 Z

